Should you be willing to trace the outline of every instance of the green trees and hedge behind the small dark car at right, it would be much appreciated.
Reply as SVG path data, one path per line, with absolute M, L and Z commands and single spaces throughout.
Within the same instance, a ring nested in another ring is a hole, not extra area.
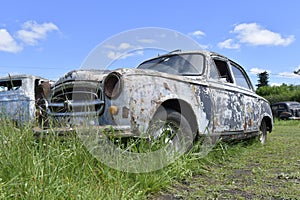
M 268 72 L 262 72 L 257 76 L 256 93 L 267 99 L 271 104 L 280 101 L 300 102 L 300 85 L 282 84 L 280 86 L 270 86 Z

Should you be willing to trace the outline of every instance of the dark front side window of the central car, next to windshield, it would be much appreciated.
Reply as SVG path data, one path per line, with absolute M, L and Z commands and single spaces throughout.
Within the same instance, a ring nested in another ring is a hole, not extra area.
M 227 62 L 214 59 L 215 66 L 211 66 L 210 78 L 221 79 L 228 83 L 233 83 Z

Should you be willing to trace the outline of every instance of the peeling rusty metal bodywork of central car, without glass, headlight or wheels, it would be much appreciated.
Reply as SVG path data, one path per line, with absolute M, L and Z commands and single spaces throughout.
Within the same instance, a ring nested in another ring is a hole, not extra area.
M 87 87 L 101 90 L 94 91 L 99 93 L 96 99 L 92 98 L 88 102 L 88 100 L 83 101 L 75 99 L 75 96 L 69 96 L 69 99 L 65 98 L 60 102 L 60 106 L 68 108 L 76 103 L 84 106 L 89 103 L 96 105 L 98 102 L 97 108 L 101 110 L 100 112 L 86 111 L 86 116 L 93 116 L 89 122 L 91 125 L 128 126 L 134 133 L 143 133 L 162 104 L 177 100 L 188 105 L 190 118 L 195 118 L 195 126 L 199 134 L 253 134 L 259 131 L 260 123 L 264 118 L 270 122 L 268 126 L 271 131 L 273 117 L 269 103 L 255 94 L 252 85 L 249 85 L 249 88 L 241 88 L 236 85 L 232 74 L 232 83 L 225 83 L 221 79 L 212 80 L 209 77 L 214 58 L 223 59 L 228 64 L 230 60 L 208 51 L 197 51 L 197 53 L 205 56 L 204 71 L 199 76 L 180 76 L 144 69 L 114 70 L 114 73 L 120 75 L 122 81 L 121 92 L 116 98 L 109 98 L 103 93 L 104 80 L 111 73 L 110 71 L 72 71 L 53 86 L 49 105 L 55 106 L 56 94 L 63 88 L 84 83 Z M 88 83 L 91 86 L 88 86 Z M 63 110 L 60 113 L 48 111 L 58 121 L 64 120 L 70 126 L 78 125 L 80 124 L 78 122 L 86 119 L 86 116 L 81 118 L 79 116 L 84 112 L 76 113 L 76 110 L 69 110 L 70 112 Z M 71 112 L 73 114 L 70 114 Z

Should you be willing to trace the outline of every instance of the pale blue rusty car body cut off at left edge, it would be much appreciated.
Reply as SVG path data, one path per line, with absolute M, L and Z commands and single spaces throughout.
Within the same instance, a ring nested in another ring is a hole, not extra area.
M 49 84 L 45 78 L 28 74 L 1 77 L 0 119 L 18 124 L 34 121 L 40 112 L 38 103 L 50 92 Z

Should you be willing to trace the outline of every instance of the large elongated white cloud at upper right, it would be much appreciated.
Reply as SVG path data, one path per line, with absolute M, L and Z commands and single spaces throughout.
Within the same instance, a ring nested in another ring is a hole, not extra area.
M 295 36 L 293 35 L 284 38 L 279 33 L 267 30 L 256 23 L 238 24 L 234 27 L 232 33 L 237 34 L 237 39 L 239 39 L 241 43 L 254 46 L 287 46 L 295 40 Z

